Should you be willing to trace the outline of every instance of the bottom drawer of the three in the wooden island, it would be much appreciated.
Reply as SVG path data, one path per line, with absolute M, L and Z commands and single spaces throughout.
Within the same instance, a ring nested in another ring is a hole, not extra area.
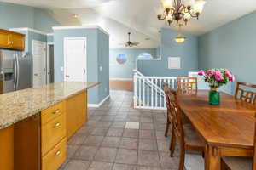
M 64 138 L 54 149 L 43 157 L 42 170 L 57 170 L 66 160 L 67 153 L 67 139 Z

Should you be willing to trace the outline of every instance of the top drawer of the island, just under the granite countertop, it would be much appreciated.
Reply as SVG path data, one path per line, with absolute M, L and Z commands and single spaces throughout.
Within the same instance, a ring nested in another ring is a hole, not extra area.
M 60 116 L 66 111 L 65 101 L 58 103 L 54 106 L 49 107 L 48 109 L 41 112 L 42 124 L 53 120 L 55 117 Z

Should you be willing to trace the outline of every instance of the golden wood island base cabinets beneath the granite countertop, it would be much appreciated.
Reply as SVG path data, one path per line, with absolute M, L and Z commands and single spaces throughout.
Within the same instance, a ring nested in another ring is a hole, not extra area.
M 85 91 L 15 123 L 9 131 L 1 130 L 0 137 L 9 140 L 0 141 L 0 149 L 7 143 L 14 145 L 13 149 L 4 148 L 3 156 L 14 150 L 14 159 L 4 164 L 0 159 L 0 170 L 57 170 L 67 158 L 67 140 L 86 120 Z M 5 132 L 10 132 L 9 136 Z

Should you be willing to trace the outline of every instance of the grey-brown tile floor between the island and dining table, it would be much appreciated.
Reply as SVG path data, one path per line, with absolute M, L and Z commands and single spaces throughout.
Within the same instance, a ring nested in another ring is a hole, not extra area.
M 131 108 L 131 92 L 111 91 L 110 96 L 89 110 L 87 124 L 68 141 L 60 169 L 176 170 L 178 151 L 171 158 L 170 137 L 164 137 L 166 112 Z M 125 128 L 126 122 L 138 122 L 139 129 Z

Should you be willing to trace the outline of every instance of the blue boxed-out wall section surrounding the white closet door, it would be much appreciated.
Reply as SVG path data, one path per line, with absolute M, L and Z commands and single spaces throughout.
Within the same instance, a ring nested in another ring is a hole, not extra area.
M 64 80 L 64 72 L 61 70 L 64 65 L 63 41 L 64 37 L 86 37 L 87 45 L 87 81 L 88 82 L 102 82 L 101 86 L 90 88 L 89 103 L 98 104 L 101 99 L 104 99 L 108 94 L 108 54 L 109 41 L 108 37 L 103 36 L 98 29 L 68 29 L 68 30 L 54 30 L 55 43 L 55 82 L 62 82 Z M 102 49 L 101 49 L 102 48 Z M 99 54 L 102 50 L 101 54 Z M 108 50 L 108 51 L 107 51 Z M 102 72 L 99 73 L 99 65 L 102 65 Z M 106 71 L 106 73 L 103 73 Z M 106 75 L 105 75 L 106 74 Z M 106 90 L 107 88 L 107 90 Z

